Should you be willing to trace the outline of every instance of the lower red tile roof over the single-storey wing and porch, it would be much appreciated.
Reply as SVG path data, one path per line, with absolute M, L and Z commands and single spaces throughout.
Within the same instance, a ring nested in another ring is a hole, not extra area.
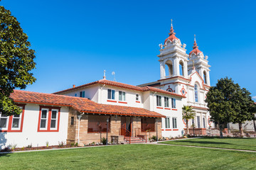
M 145 117 L 164 118 L 164 115 L 148 111 L 144 108 L 134 108 L 128 106 L 113 106 L 99 104 L 87 98 L 63 96 L 56 94 L 43 94 L 32 91 L 14 90 L 10 96 L 16 103 L 37 103 L 55 106 L 70 106 L 77 111 L 85 113 L 101 113 L 113 115 L 134 115 Z

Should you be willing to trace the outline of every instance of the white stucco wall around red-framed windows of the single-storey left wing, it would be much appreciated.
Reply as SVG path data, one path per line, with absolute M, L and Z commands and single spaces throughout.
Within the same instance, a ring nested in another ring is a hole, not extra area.
M 60 125 L 59 132 L 38 132 L 39 106 L 36 104 L 26 104 L 23 130 L 22 132 L 0 132 L 0 147 L 3 149 L 11 144 L 16 144 L 17 147 L 33 147 L 58 145 L 58 142 L 66 142 L 68 136 L 68 107 L 60 108 Z

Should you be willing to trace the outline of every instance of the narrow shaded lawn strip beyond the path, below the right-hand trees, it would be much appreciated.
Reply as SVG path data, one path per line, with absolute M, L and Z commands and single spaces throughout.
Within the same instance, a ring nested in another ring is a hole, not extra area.
M 219 137 L 202 137 L 197 139 L 188 140 L 174 140 L 161 142 L 171 145 L 188 145 L 198 147 L 218 147 L 228 149 L 244 149 L 256 151 L 256 139 L 255 138 L 223 138 Z

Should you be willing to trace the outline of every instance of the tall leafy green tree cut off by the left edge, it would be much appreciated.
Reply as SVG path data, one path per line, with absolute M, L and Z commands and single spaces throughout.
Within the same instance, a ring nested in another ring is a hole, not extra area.
M 0 6 L 0 112 L 3 114 L 21 113 L 9 96 L 15 88 L 25 89 L 36 81 L 31 73 L 36 67 L 35 51 L 30 47 L 20 23 L 11 16 L 11 11 Z

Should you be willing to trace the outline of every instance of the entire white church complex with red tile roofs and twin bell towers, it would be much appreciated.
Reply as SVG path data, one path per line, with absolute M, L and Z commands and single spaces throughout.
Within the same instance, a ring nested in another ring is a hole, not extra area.
M 192 46 L 192 45 L 191 45 Z M 14 90 L 11 98 L 20 115 L 0 113 L 0 147 L 11 144 L 33 147 L 78 142 L 87 145 L 107 137 L 118 142 L 145 142 L 155 135 L 177 137 L 185 132 L 182 107 L 193 106 L 197 135 L 213 126 L 206 106 L 210 88 L 208 57 L 198 50 L 186 53 L 171 26 L 164 45 L 159 45 L 160 79 L 132 86 L 103 79 L 73 85 L 53 94 Z

